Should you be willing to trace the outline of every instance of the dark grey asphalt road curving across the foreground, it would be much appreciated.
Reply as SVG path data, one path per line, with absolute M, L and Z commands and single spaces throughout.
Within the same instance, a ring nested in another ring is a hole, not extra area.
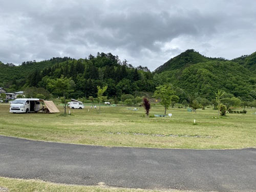
M 0 136 L 0 176 L 146 189 L 256 191 L 256 148 L 102 147 Z

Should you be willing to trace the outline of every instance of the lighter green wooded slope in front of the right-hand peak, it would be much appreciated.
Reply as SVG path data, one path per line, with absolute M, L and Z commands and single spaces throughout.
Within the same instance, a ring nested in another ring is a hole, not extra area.
M 172 82 L 174 87 L 190 94 L 199 93 L 208 100 L 213 99 L 218 90 L 224 90 L 235 97 L 248 97 L 251 90 L 255 89 L 255 84 L 248 82 L 248 79 L 254 82 L 252 79 L 255 74 L 232 61 L 200 62 L 185 69 L 165 71 L 159 75 Z

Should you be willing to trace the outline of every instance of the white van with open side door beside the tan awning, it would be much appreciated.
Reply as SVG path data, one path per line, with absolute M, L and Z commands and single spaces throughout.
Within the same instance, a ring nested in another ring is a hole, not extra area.
M 15 99 L 10 105 L 10 113 L 30 113 L 40 110 L 41 99 Z

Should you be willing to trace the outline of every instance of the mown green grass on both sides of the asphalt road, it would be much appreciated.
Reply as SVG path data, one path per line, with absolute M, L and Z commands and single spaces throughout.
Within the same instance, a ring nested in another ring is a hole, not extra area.
M 161 105 L 153 105 L 150 117 L 143 108 L 103 106 L 101 113 L 90 109 L 70 110 L 60 113 L 12 114 L 10 104 L 0 103 L 0 135 L 103 146 L 234 149 L 256 147 L 255 109 L 247 114 L 218 116 L 217 110 L 206 109 L 188 112 L 186 109 L 169 109 L 171 117 L 155 117 L 163 114 Z M 131 110 L 129 110 L 131 109 Z M 242 109 L 237 109 L 242 111 Z M 194 123 L 196 120 L 196 123 Z M 0 191 L 147 191 L 142 189 L 114 189 L 97 186 L 70 186 L 35 180 L 19 180 L 0 177 Z M 177 191 L 177 190 L 174 190 Z

